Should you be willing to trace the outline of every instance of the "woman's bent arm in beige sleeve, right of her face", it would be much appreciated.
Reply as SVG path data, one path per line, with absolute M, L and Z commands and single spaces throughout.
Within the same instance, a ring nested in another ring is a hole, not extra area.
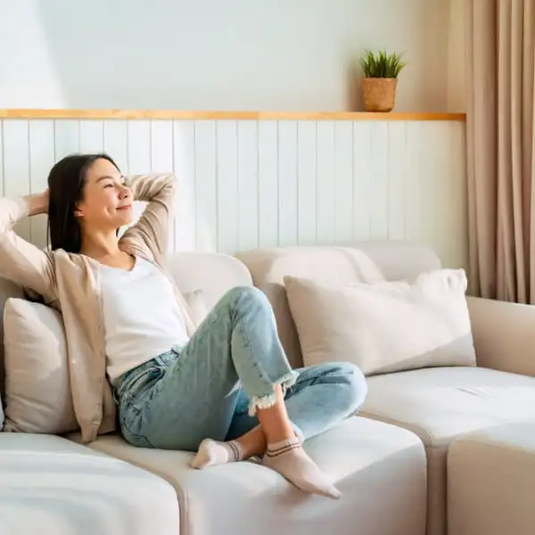
M 165 255 L 173 224 L 177 179 L 173 174 L 137 175 L 127 179 L 134 200 L 146 202 L 143 214 L 122 239 L 142 242 L 152 254 Z

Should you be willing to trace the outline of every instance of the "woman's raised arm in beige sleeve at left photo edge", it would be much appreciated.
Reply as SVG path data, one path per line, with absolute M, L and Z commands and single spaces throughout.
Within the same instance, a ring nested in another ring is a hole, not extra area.
M 53 299 L 53 259 L 16 235 L 12 227 L 27 216 L 46 213 L 48 192 L 19 199 L 0 198 L 0 277 Z

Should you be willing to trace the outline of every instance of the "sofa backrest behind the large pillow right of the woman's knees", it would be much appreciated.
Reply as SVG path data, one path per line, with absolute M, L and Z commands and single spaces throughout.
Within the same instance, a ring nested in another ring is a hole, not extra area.
M 373 283 L 382 277 L 412 282 L 425 271 L 441 268 L 440 259 L 431 249 L 402 241 L 258 249 L 240 252 L 236 257 L 249 268 L 253 283 L 271 301 L 279 336 L 293 367 L 303 366 L 303 360 L 284 276 L 320 278 L 340 284 Z

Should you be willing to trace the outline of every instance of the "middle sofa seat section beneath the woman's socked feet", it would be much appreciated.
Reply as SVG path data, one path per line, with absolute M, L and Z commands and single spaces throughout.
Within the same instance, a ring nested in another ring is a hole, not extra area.
M 182 535 L 234 533 L 423 535 L 425 457 L 416 435 L 351 417 L 305 447 L 342 491 L 340 500 L 295 489 L 253 463 L 193 470 L 193 454 L 134 448 L 118 435 L 90 444 L 169 481 L 177 490 Z

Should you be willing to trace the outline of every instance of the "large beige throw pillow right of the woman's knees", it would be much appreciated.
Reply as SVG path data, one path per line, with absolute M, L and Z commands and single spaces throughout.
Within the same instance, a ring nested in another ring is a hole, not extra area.
M 462 269 L 404 281 L 333 284 L 284 277 L 306 366 L 349 360 L 366 375 L 475 366 Z

